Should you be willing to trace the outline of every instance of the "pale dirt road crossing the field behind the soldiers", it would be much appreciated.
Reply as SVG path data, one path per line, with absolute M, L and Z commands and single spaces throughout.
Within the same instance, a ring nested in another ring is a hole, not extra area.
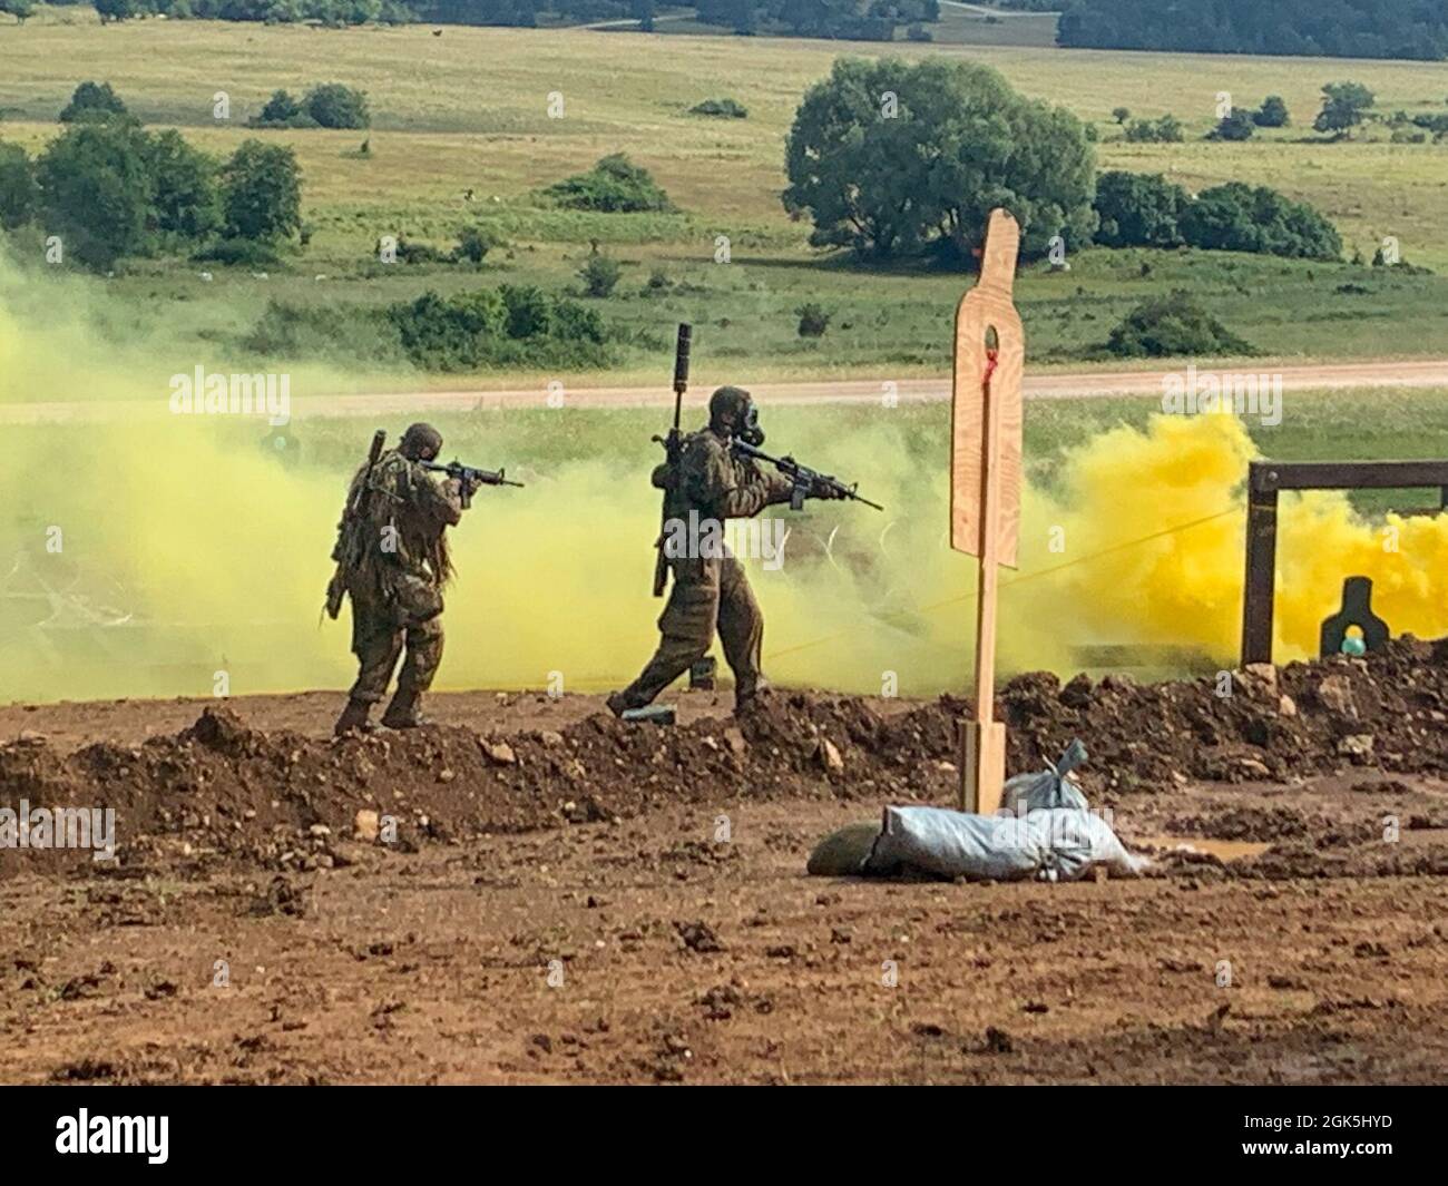
M 1271 366 L 1254 363 L 1261 371 L 1281 375 L 1284 391 L 1341 388 L 1448 388 L 1448 359 L 1415 359 L 1407 362 L 1337 362 L 1312 366 Z M 1211 368 L 1200 366 L 1199 371 Z M 1161 395 L 1167 375 L 1173 371 L 1077 371 L 1037 372 L 1025 377 L 1027 400 L 1080 400 L 1105 395 Z M 1224 374 L 1228 372 L 1222 368 Z M 695 390 L 707 391 L 723 382 L 723 375 L 696 375 Z M 875 404 L 893 391 L 902 403 L 941 403 L 950 398 L 948 378 L 927 379 L 822 379 L 818 382 L 750 384 L 752 391 L 769 404 Z M 549 392 L 546 384 L 513 388 L 469 388 L 463 391 L 407 391 L 363 395 L 292 392 L 292 419 L 342 416 L 395 416 L 436 411 L 494 411 L 505 408 L 549 407 L 549 400 L 562 398 L 563 407 L 633 408 L 668 407 L 673 395 L 665 384 L 649 387 L 584 387 Z M 0 424 L 33 424 L 46 421 L 88 421 L 140 419 L 164 416 L 168 411 L 165 392 L 156 400 L 65 400 L 7 404 L 0 407 Z

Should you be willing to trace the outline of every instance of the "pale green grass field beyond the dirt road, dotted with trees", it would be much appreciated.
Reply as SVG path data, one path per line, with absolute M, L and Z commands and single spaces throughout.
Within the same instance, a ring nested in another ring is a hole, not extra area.
M 67 19 L 77 14 L 64 10 Z M 947 10 L 951 19 L 966 10 Z M 1002 17 L 1009 25 L 1016 17 Z M 947 22 L 948 23 L 948 22 Z M 959 22 L 957 22 L 959 23 Z M 982 25 L 992 32 L 1001 26 Z M 947 366 L 959 275 L 866 271 L 822 258 L 808 226 L 788 219 L 783 139 L 804 90 L 841 54 L 967 56 L 1005 72 L 1030 96 L 1063 103 L 1099 125 L 1102 168 L 1161 171 L 1189 188 L 1228 180 L 1271 184 L 1322 209 L 1344 233 L 1347 253 L 1371 256 L 1396 236 L 1406 259 L 1448 269 L 1448 146 L 1392 145 L 1380 130 L 1325 143 L 1305 130 L 1326 81 L 1370 85 L 1378 110 L 1441 109 L 1434 64 L 1125 54 L 1015 45 L 841 43 L 617 30 L 429 28 L 323 30 L 201 22 L 120 26 L 30 22 L 0 26 L 0 138 L 38 149 L 74 85 L 109 80 L 146 123 L 177 126 L 214 153 L 248 136 L 297 149 L 306 178 L 306 253 L 265 279 L 175 259 L 135 261 L 110 291 L 190 326 L 203 340 L 230 340 L 268 298 L 297 303 L 384 303 L 424 288 L 529 279 L 550 288 L 598 240 L 624 261 L 605 316 L 640 330 L 620 374 L 666 365 L 669 330 L 689 319 L 707 329 L 717 356 L 747 359 L 756 375 L 938 372 Z M 253 132 L 245 127 L 266 96 L 321 81 L 369 94 L 371 132 Z M 230 117 L 213 117 L 214 97 Z M 550 119 L 549 94 L 563 117 Z M 1281 94 L 1297 126 L 1242 145 L 1200 136 L 1215 122 L 1218 93 L 1253 104 Z M 746 120 L 708 120 L 688 109 L 731 96 Z M 1189 139 L 1128 145 L 1111 120 L 1173 112 Z M 1374 138 L 1376 136 L 1376 138 Z M 369 155 L 361 156 L 362 140 Z M 624 151 L 647 165 L 682 213 L 579 214 L 542 207 L 534 191 Z M 465 191 L 473 200 L 465 200 Z M 452 268 L 384 268 L 379 235 L 447 245 L 479 222 L 508 240 L 479 278 Z M 727 236 L 731 262 L 714 262 Z M 23 252 L 35 243 L 22 242 Z M 1341 265 L 1222 253 L 1086 251 L 1070 274 L 1035 269 L 1018 287 L 1032 361 L 1079 362 L 1135 301 L 1169 288 L 1197 293 L 1231 329 L 1267 356 L 1312 359 L 1448 353 L 1448 281 Z M 647 287 L 653 272 L 665 284 Z M 324 277 L 324 279 L 317 279 Z M 1365 290 L 1365 291 L 1361 291 Z M 821 303 L 824 339 L 795 333 L 795 308 Z M 349 350 L 349 353 L 353 353 Z

